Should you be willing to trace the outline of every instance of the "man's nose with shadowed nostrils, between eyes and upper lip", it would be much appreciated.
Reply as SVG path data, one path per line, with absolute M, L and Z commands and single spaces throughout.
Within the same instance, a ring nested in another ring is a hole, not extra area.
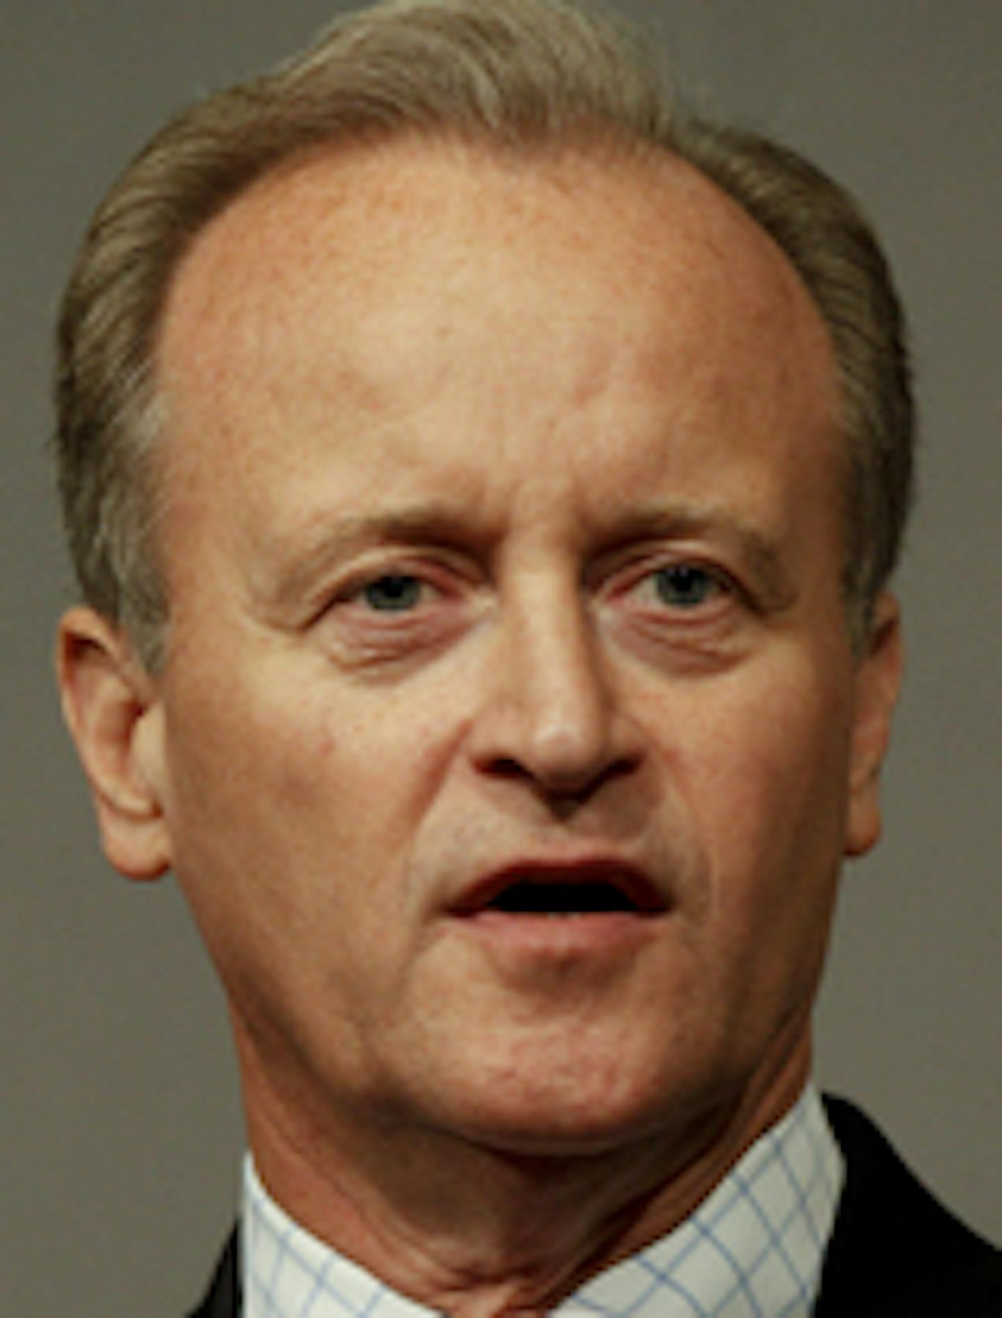
M 540 585 L 502 608 L 485 697 L 471 730 L 479 772 L 521 779 L 574 804 L 641 759 L 585 602 Z

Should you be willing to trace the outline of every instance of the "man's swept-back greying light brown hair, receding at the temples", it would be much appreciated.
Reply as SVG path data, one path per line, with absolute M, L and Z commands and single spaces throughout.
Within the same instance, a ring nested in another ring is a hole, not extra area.
M 195 236 L 282 163 L 403 133 L 504 150 L 670 152 L 777 241 L 827 323 L 848 443 L 844 589 L 861 645 L 907 515 L 914 418 L 887 265 L 848 194 L 762 137 L 682 113 L 607 22 L 560 0 L 383 0 L 273 72 L 196 103 L 126 169 L 84 237 L 59 320 L 57 449 L 84 598 L 163 659 L 155 353 Z

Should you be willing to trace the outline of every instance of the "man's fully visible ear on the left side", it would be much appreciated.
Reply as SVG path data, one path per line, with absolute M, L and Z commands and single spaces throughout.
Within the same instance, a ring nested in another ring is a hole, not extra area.
M 170 866 L 161 784 L 163 722 L 154 679 L 121 629 L 93 609 L 59 623 L 57 673 L 63 716 L 91 784 L 104 851 L 130 879 Z

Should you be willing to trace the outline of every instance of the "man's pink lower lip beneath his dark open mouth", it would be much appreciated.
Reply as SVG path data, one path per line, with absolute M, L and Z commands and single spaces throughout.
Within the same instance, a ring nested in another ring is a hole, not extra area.
M 456 917 L 470 936 L 529 958 L 594 958 L 635 950 L 661 927 L 662 913 L 603 911 L 573 915 L 512 915 L 483 909 Z

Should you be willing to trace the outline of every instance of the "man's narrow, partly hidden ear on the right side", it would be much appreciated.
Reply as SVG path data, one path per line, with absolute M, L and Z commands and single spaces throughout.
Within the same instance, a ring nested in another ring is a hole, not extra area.
M 885 592 L 877 600 L 866 652 L 856 668 L 847 855 L 864 855 L 881 836 L 881 766 L 890 741 L 902 668 L 901 609 L 894 596 Z

